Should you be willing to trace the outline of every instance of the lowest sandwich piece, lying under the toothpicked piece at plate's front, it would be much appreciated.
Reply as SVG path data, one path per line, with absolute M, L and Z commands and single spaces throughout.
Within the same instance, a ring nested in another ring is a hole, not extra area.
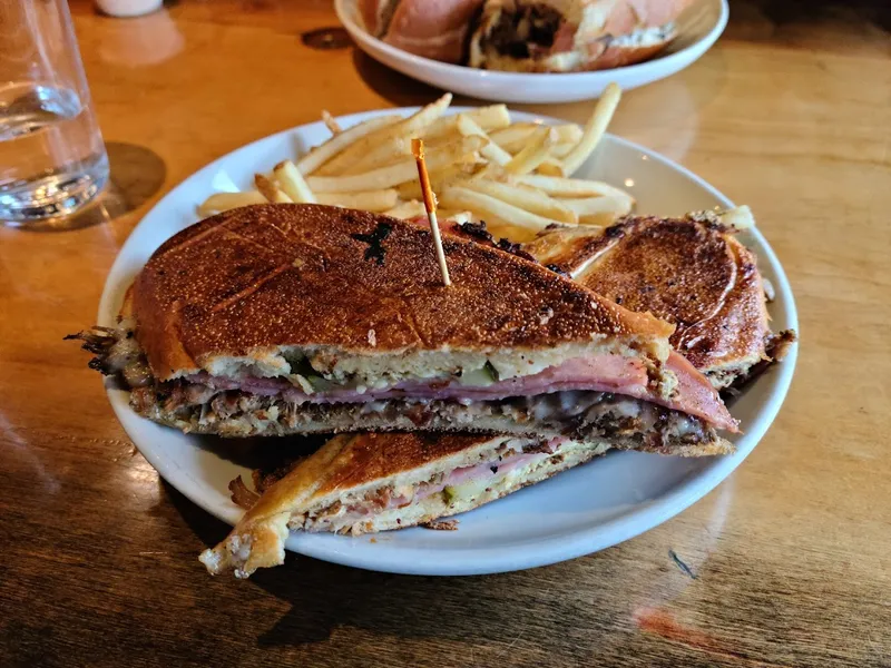
M 342 434 L 300 461 L 262 495 L 233 481 L 246 508 L 229 536 L 205 550 L 213 574 L 246 578 L 284 562 L 288 531 L 351 536 L 433 523 L 500 499 L 603 454 L 608 440 L 472 434 Z M 708 454 L 685 451 L 682 454 Z

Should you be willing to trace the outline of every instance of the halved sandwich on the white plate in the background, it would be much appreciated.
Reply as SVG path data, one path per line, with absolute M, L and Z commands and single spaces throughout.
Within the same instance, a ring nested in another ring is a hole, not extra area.
M 658 53 L 693 0 L 359 0 L 369 33 L 433 60 L 515 72 L 623 67 Z

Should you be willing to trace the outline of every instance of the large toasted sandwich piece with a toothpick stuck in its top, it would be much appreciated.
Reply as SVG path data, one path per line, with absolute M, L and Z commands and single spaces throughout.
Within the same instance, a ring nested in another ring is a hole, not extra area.
M 74 335 L 134 410 L 224 436 L 484 432 L 730 452 L 674 327 L 535 262 L 337 207 L 257 205 L 168 239 L 117 327 Z

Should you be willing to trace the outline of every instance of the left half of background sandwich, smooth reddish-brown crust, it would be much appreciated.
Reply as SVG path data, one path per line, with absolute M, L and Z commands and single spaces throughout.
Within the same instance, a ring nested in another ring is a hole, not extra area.
M 359 0 L 365 29 L 388 45 L 443 62 L 466 58 L 482 0 Z

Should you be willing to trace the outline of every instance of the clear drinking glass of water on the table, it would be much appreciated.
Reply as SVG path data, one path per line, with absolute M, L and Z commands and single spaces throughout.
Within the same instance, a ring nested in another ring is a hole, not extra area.
M 107 179 L 68 3 L 0 0 L 0 222 L 65 216 Z

